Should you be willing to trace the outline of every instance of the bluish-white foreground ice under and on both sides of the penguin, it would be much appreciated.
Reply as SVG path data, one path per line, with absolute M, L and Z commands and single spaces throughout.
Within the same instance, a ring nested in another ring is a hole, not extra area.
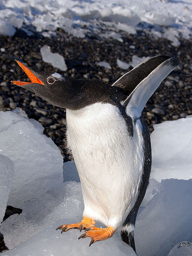
M 59 149 L 43 135 L 43 127 L 28 119 L 24 111 L 14 111 L 0 112 L 0 153 L 4 155 L 0 156 L 0 191 L 4 193 L 0 209 L 5 209 L 11 190 L 8 203 L 23 212 L 1 224 L 6 246 L 16 246 L 2 256 L 95 252 L 135 256 L 132 248 L 121 241 L 118 231 L 107 241 L 88 247 L 89 238 L 77 240 L 79 230 L 62 235 L 55 230 L 61 224 L 82 219 L 84 203 L 75 163 L 63 164 Z M 152 173 L 136 221 L 136 250 L 138 256 L 167 256 L 169 252 L 169 256 L 192 255 L 188 243 L 192 242 L 192 118 L 167 121 L 154 129 Z M 103 227 L 101 223 L 96 225 Z

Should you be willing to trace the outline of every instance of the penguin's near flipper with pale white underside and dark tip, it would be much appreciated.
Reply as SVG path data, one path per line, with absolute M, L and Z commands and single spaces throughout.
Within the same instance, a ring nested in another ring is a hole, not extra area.
M 170 58 L 161 63 L 144 78 L 123 102 L 122 105 L 126 108 L 126 114 L 132 116 L 134 119 L 139 118 L 148 99 L 164 78 L 169 75 L 173 69 L 179 66 L 179 64 L 180 60 L 178 58 Z

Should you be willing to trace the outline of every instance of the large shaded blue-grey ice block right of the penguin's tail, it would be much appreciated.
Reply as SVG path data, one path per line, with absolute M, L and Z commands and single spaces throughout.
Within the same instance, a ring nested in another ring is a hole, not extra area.
M 190 241 L 192 237 L 192 179 L 162 180 L 159 186 L 160 192 L 137 216 L 138 256 L 166 256 L 175 244 Z

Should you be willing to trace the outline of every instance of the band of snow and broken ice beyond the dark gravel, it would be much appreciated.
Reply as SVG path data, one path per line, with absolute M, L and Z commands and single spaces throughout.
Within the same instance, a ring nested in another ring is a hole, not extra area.
M 31 36 L 34 28 L 54 36 L 57 28 L 84 38 L 96 34 L 120 42 L 121 31 L 150 31 L 173 46 L 179 37 L 191 38 L 192 1 L 160 0 L 6 0 L 0 1 L 0 34 L 12 36 L 21 28 Z

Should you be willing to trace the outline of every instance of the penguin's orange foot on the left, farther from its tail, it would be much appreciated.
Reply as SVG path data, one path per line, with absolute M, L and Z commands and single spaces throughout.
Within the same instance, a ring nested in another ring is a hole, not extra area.
M 76 224 L 68 224 L 68 225 L 61 225 L 58 228 L 56 228 L 56 230 L 61 229 L 61 234 L 63 232 L 68 231 L 71 228 L 76 228 L 79 229 L 80 232 L 82 229 L 87 229 L 87 228 L 92 228 L 95 226 L 95 221 L 91 220 L 89 218 L 84 217 L 82 221 L 80 221 L 79 223 Z

